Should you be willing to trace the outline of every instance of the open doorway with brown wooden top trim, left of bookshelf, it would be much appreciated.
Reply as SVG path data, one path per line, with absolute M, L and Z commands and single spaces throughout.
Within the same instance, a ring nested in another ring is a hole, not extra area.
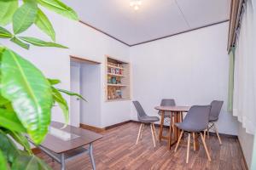
M 70 100 L 70 124 L 101 126 L 101 63 L 71 56 L 71 91 L 81 94 L 84 99 Z

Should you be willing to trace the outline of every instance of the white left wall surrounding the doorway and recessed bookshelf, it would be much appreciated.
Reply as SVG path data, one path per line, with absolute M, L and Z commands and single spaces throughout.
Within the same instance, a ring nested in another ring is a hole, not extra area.
M 130 101 L 106 103 L 104 89 L 104 55 L 108 54 L 115 58 L 129 61 L 129 47 L 99 31 L 84 26 L 78 21 L 67 20 L 49 11 L 46 14 L 48 14 L 55 28 L 56 42 L 66 45 L 69 49 L 38 48 L 32 46 L 30 50 L 26 50 L 8 40 L 1 39 L 1 43 L 32 61 L 47 77 L 61 79 L 62 83 L 59 85 L 59 88 L 70 89 L 70 54 L 101 62 L 101 105 L 99 106 L 102 107 L 101 127 L 130 120 Z M 35 26 L 32 26 L 23 36 L 34 36 L 49 40 Z M 69 101 L 69 97 L 67 97 L 67 100 Z M 64 118 L 59 108 L 53 109 L 53 120 L 63 122 Z

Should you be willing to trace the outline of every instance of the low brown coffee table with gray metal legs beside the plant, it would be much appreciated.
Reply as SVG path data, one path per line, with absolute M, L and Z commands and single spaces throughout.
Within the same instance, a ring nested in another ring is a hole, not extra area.
M 63 126 L 64 124 L 61 122 L 51 122 L 50 132 L 44 142 L 37 147 L 55 161 L 61 163 L 61 170 L 65 169 L 65 161 L 87 153 L 90 156 L 92 168 L 95 170 L 92 143 L 101 139 L 102 135 L 79 127 L 67 126 L 61 129 Z M 71 139 L 69 139 L 69 136 L 71 136 Z M 32 143 L 30 139 L 29 141 Z M 89 148 L 85 149 L 83 146 L 87 144 L 89 144 Z

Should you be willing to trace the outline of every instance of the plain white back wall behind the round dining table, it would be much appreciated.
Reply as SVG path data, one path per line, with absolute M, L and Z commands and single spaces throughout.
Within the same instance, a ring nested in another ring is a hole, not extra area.
M 219 132 L 237 134 L 236 118 L 227 112 L 228 27 L 226 22 L 132 47 L 133 99 L 151 116 L 157 115 L 154 106 L 164 98 L 176 99 L 177 105 L 224 100 Z M 133 105 L 131 112 L 137 119 Z

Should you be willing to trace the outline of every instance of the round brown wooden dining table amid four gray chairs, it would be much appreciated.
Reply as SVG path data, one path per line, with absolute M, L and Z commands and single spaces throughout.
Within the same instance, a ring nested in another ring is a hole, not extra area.
M 190 109 L 190 106 L 156 106 L 154 109 L 160 111 L 160 131 L 159 131 L 159 141 L 162 139 L 168 140 L 168 148 L 171 150 L 171 147 L 173 144 L 177 143 L 177 139 L 181 133 L 181 130 L 178 129 L 176 126 L 172 126 L 172 123 L 182 122 L 183 121 L 183 112 L 188 112 Z M 164 120 L 165 120 L 165 112 L 170 111 L 171 112 L 171 120 L 170 120 L 170 127 L 169 132 L 167 136 L 163 135 L 163 128 L 164 128 Z M 174 122 L 172 122 L 172 118 L 174 119 Z M 174 128 L 174 134 L 172 135 L 172 127 Z M 173 137 L 173 138 L 172 138 Z M 195 141 L 196 150 L 199 149 L 198 141 Z

